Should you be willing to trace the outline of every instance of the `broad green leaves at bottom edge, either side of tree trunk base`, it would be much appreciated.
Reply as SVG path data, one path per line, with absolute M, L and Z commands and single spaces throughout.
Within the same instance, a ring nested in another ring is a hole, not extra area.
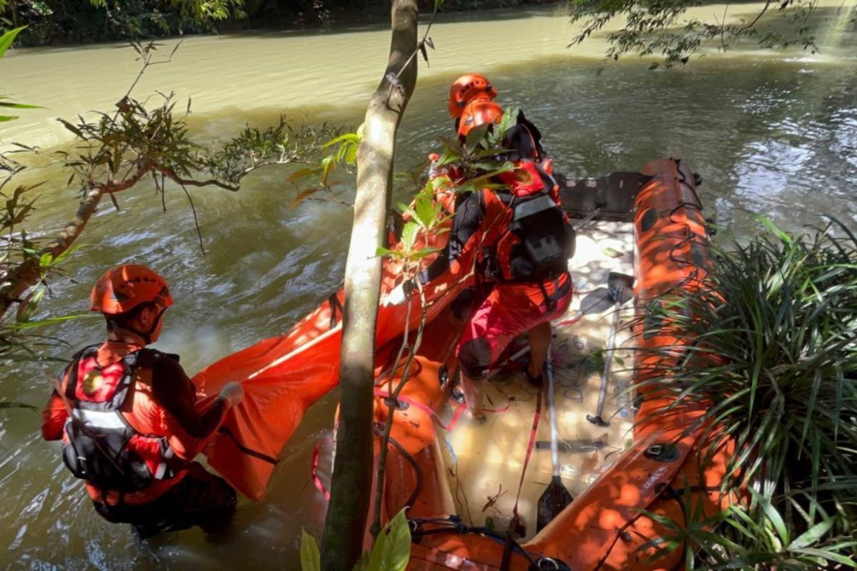
M 411 559 L 411 528 L 402 509 L 384 526 L 369 554 L 354 566 L 354 571 L 405 571 Z M 301 531 L 301 569 L 316 571 L 321 568 L 321 556 L 315 538 Z

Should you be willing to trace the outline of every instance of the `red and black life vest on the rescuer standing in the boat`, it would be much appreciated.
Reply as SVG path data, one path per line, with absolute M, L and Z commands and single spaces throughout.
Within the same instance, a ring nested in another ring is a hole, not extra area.
M 575 233 L 554 199 L 558 193 L 553 176 L 524 159 L 498 179 L 506 188 L 484 191 L 486 213 L 494 209 L 506 228 L 500 229 L 486 255 L 488 277 L 498 282 L 531 282 L 565 273 L 574 255 Z

